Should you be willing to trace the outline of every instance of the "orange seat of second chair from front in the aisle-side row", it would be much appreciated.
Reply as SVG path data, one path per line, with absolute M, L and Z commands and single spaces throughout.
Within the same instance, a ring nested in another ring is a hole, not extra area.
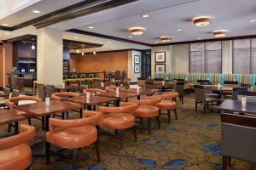
M 108 114 L 103 117 L 102 127 L 125 129 L 135 125 L 135 117 L 127 113 Z

